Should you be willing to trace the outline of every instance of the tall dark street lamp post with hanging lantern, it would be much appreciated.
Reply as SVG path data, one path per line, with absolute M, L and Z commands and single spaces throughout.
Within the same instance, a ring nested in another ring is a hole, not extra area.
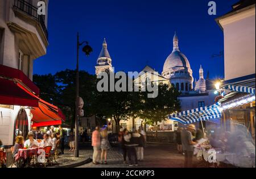
M 86 56 L 89 56 L 93 51 L 89 46 L 88 41 L 79 41 L 79 32 L 77 32 L 77 61 L 76 61 L 76 114 L 75 114 L 75 157 L 79 157 L 79 47 L 86 43 L 82 48 Z

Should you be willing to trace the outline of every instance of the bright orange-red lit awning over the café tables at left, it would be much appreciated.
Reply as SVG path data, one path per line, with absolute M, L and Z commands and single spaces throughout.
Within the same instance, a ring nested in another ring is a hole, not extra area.
M 31 109 L 33 115 L 31 127 L 55 126 L 65 120 L 61 110 L 43 99 L 39 99 L 39 107 Z

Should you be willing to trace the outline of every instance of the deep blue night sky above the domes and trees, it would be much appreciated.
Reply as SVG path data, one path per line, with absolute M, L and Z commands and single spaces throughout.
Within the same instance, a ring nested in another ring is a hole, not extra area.
M 217 15 L 208 15 L 208 0 L 51 0 L 49 2 L 49 47 L 36 59 L 34 73 L 75 69 L 76 33 L 93 47 L 90 57 L 80 53 L 80 69 L 94 74 L 94 65 L 106 38 L 115 71 L 140 71 L 148 64 L 162 72 L 172 51 L 174 31 L 181 52 L 188 57 L 193 76 L 224 76 L 223 32 L 215 18 L 231 10 L 238 0 L 217 0 Z M 148 61 L 148 63 L 147 63 Z

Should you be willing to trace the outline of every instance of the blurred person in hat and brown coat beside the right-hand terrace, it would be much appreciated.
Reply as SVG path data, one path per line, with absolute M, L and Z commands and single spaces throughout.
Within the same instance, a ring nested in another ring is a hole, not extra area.
M 184 168 L 192 168 L 193 166 L 193 145 L 196 144 L 192 139 L 192 132 L 196 131 L 194 124 L 189 124 L 185 130 L 181 132 L 181 143 L 185 153 Z

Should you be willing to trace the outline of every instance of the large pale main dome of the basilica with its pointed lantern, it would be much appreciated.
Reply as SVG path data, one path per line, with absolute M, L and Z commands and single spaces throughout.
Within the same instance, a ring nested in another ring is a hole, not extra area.
M 179 50 L 179 39 L 177 38 L 176 32 L 174 35 L 174 49 L 164 63 L 163 72 L 175 67 L 191 68 L 187 57 Z

